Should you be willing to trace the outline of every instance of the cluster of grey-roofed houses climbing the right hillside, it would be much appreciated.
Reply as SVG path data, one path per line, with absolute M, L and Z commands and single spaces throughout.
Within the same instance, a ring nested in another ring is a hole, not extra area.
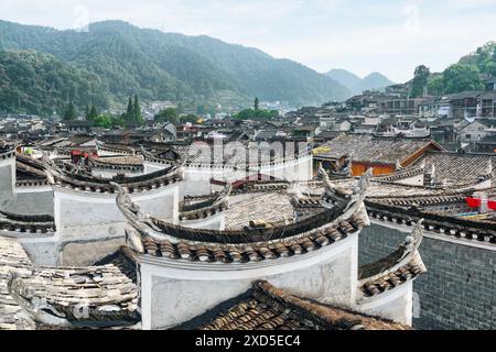
M 309 135 L 319 145 L 341 133 L 385 138 L 430 138 L 450 151 L 496 151 L 496 78 L 483 91 L 409 98 L 409 86 L 365 91 L 345 102 L 290 112 L 301 124 L 315 127 Z

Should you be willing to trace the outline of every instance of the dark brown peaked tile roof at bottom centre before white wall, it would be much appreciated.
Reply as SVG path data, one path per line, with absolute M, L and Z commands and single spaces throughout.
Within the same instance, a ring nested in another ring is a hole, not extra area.
M 409 330 L 409 327 L 322 305 L 255 282 L 252 289 L 228 307 L 198 317 L 200 330 Z M 212 317 L 214 316 L 214 317 Z M 205 321 L 206 320 L 206 321 Z

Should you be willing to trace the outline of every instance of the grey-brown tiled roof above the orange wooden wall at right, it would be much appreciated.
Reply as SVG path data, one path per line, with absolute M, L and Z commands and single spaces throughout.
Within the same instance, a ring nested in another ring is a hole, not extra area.
M 402 162 L 413 153 L 432 145 L 441 147 L 430 140 L 399 138 L 374 138 L 369 134 L 342 134 L 319 147 L 317 158 L 337 160 L 348 156 L 351 161 L 395 164 Z

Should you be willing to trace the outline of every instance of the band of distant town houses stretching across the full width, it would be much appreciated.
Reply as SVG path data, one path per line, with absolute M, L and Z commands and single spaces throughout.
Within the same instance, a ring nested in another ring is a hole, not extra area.
M 315 146 L 342 133 L 381 138 L 432 139 L 449 151 L 496 151 L 496 79 L 484 91 L 410 99 L 408 84 L 365 91 L 344 102 L 303 107 L 277 120 L 202 117 L 202 123 L 154 122 L 152 116 L 172 102 L 155 102 L 145 111 L 147 125 L 128 129 L 95 128 L 88 121 L 60 122 L 40 117 L 0 119 L 0 139 L 40 141 L 52 136 L 94 134 L 108 141 L 191 143 L 214 140 L 308 142 Z

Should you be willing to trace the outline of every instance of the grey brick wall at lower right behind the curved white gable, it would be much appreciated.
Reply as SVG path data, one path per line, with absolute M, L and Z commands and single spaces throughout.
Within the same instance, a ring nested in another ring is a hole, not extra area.
M 364 229 L 360 264 L 396 250 L 407 234 L 374 223 Z M 496 329 L 495 251 L 424 238 L 420 254 L 428 273 L 413 283 L 416 329 Z

